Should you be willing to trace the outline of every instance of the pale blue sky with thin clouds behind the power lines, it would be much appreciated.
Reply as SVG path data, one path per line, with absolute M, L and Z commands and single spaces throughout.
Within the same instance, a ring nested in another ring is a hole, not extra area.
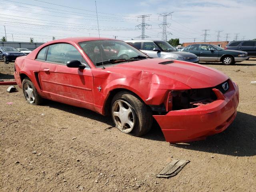
M 250 40 L 256 38 L 256 0 L 0 0 L 0 37 L 8 41 L 47 42 L 75 36 L 100 36 L 120 40 L 140 39 L 140 15 L 149 15 L 146 39 L 161 40 L 163 17 L 168 36 L 180 42 Z

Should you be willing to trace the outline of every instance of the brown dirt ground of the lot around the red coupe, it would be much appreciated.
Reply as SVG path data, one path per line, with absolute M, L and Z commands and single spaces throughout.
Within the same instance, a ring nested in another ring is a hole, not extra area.
M 14 93 L 0 86 L 0 191 L 255 192 L 256 58 L 206 65 L 238 84 L 238 114 L 224 132 L 186 144 L 170 145 L 156 127 L 129 136 L 109 128 L 109 117 L 58 102 L 29 105 L 18 86 Z M 0 62 L 0 79 L 14 78 L 13 70 Z M 156 178 L 173 159 L 191 162 Z

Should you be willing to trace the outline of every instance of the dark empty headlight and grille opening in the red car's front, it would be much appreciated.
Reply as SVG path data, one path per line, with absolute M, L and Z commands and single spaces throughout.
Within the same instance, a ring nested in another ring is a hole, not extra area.
M 212 88 L 172 91 L 172 110 L 196 108 L 216 99 Z

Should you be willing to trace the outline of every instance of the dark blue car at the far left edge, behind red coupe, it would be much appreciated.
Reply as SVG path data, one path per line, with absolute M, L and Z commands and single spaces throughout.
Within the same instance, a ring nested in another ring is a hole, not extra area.
M 15 60 L 19 56 L 25 56 L 26 54 L 19 52 L 13 47 L 0 47 L 0 59 L 4 62 Z

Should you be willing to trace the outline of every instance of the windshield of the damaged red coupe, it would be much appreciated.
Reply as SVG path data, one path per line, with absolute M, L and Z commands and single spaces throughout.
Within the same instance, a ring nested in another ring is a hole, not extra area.
M 80 42 L 79 45 L 97 67 L 109 60 L 148 57 L 133 46 L 119 40 L 95 40 Z

